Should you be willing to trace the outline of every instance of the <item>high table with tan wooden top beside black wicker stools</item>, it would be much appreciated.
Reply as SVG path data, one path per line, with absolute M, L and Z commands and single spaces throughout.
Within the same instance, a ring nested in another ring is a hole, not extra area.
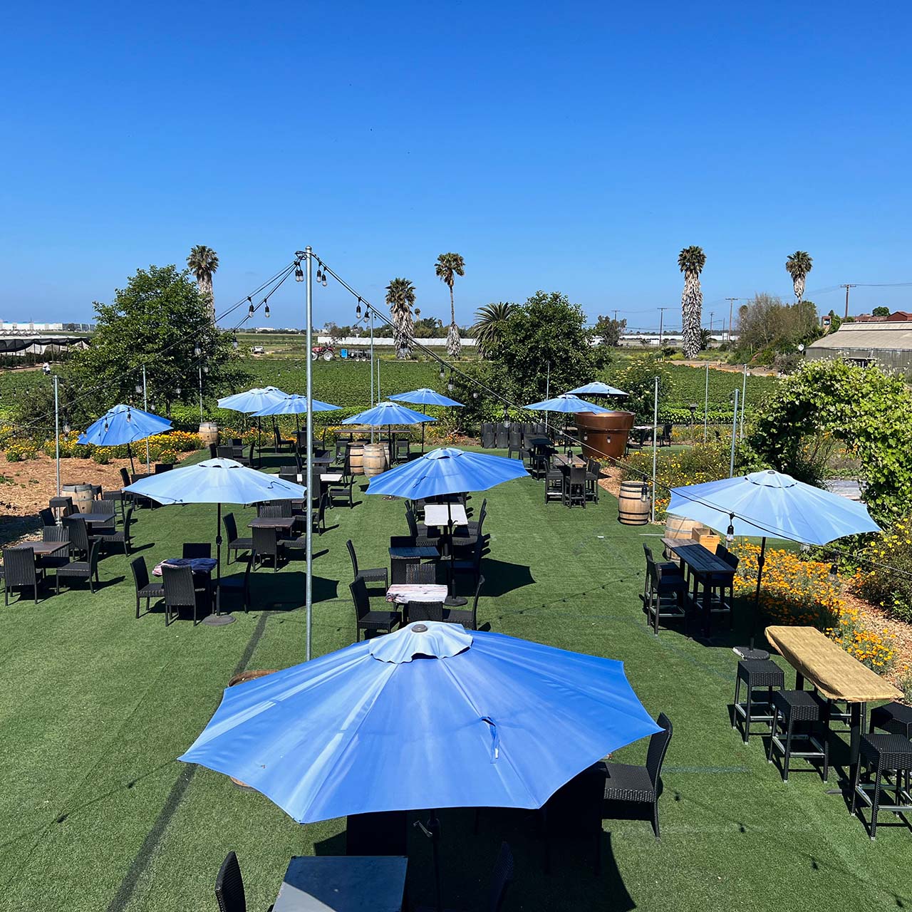
M 849 704 L 850 765 L 855 765 L 867 704 L 874 700 L 901 700 L 903 695 L 816 627 L 767 627 L 766 638 L 795 669 L 796 690 L 802 690 L 807 679 L 827 700 Z

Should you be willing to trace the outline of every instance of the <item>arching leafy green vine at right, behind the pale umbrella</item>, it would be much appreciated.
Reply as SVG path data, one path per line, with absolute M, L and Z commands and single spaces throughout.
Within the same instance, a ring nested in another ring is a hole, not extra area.
M 912 509 L 912 393 L 901 377 L 842 360 L 807 361 L 764 404 L 751 446 L 781 472 L 819 482 L 834 441 L 861 465 L 878 522 Z

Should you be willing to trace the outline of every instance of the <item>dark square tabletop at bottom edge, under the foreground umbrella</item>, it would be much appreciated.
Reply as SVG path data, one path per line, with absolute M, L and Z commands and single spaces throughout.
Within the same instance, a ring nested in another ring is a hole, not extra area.
M 401 855 L 295 856 L 273 912 L 401 912 L 408 865 Z

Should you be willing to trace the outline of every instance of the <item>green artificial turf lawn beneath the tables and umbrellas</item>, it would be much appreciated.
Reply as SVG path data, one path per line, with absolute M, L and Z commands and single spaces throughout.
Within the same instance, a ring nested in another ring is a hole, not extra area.
M 277 464 L 279 458 L 274 458 Z M 603 873 L 587 840 L 554 845 L 545 875 L 535 814 L 443 812 L 448 907 L 478 908 L 497 847 L 516 857 L 507 909 L 886 909 L 912 903 L 912 833 L 878 830 L 871 843 L 826 794 L 815 772 L 783 784 L 762 739 L 731 731 L 736 658 L 663 629 L 653 637 L 637 593 L 645 527 L 617 523 L 616 503 L 544 506 L 540 482 L 487 493 L 489 581 L 479 622 L 557 647 L 623 659 L 647 709 L 674 723 L 660 800 L 662 838 L 645 821 L 606 821 Z M 388 561 L 390 534 L 406 531 L 402 503 L 358 496 L 328 513 L 316 542 L 317 655 L 354 637 L 347 583 L 351 537 L 364 566 Z M 477 510 L 482 495 L 472 505 Z M 212 541 L 215 508 L 140 511 L 137 553 L 148 565 Z M 240 528 L 250 511 L 234 508 Z M 266 798 L 226 777 L 175 760 L 206 724 L 241 668 L 283 668 L 304 658 L 303 564 L 253 576 L 255 609 L 229 627 L 167 629 L 161 613 L 136 620 L 127 559 L 101 564 L 103 589 L 30 599 L 0 610 L 5 661 L 0 688 L 0 908 L 16 910 L 213 909 L 212 883 L 234 849 L 248 908 L 274 899 L 291 855 L 343 854 L 344 821 L 300 826 Z M 233 568 L 231 568 L 233 569 Z M 791 676 L 790 676 L 791 678 Z M 615 759 L 642 762 L 645 742 Z M 836 762 L 845 750 L 835 751 Z M 800 764 L 799 764 L 800 765 Z M 429 770 L 428 775 L 461 774 Z M 830 787 L 837 782 L 831 774 Z M 888 815 L 883 815 L 886 820 Z M 430 845 L 409 836 L 409 894 L 430 903 Z

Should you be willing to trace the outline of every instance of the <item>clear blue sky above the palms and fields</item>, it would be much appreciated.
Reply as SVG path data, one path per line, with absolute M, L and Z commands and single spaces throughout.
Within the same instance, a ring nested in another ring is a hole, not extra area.
M 87 320 L 208 244 L 217 309 L 312 244 L 379 300 L 465 257 L 457 317 L 560 290 L 634 326 L 700 244 L 720 299 L 912 281 L 908 5 L 16 4 L 0 35 L 0 318 Z M 301 285 L 271 323 L 303 326 Z M 854 311 L 912 310 L 912 287 Z M 350 322 L 318 289 L 315 322 Z M 261 319 L 257 322 L 262 323 Z M 718 322 L 717 322 L 718 325 Z

